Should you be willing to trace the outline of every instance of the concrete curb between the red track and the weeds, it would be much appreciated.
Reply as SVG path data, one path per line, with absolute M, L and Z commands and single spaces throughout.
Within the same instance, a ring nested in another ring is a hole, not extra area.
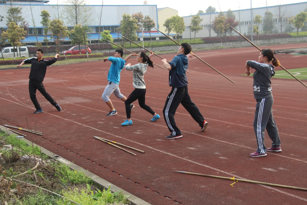
M 10 130 L 6 129 L 5 127 L 3 127 L 1 125 L 0 125 L 0 130 L 4 131 L 6 133 L 9 133 L 10 135 L 17 136 L 17 134 L 15 134 L 14 132 L 11 132 Z M 31 141 L 29 141 L 29 140 L 27 140 L 25 138 L 20 138 L 20 139 L 24 140 L 27 144 L 33 143 L 33 142 L 31 142 Z M 38 146 L 37 144 L 34 144 L 34 143 L 33 143 L 33 145 L 34 146 Z M 38 147 L 40 147 L 40 146 L 38 146 Z M 40 147 L 40 148 L 41 148 L 41 152 L 43 152 L 44 154 L 48 155 L 49 157 L 52 158 L 53 156 L 56 156 L 55 153 L 52 153 L 52 152 L 50 152 L 49 150 L 47 150 L 45 148 L 42 148 L 42 147 Z M 53 159 L 55 159 L 55 158 L 53 158 Z M 114 184 L 112 184 L 112 183 L 110 183 L 110 182 L 100 178 L 99 176 L 97 176 L 97 175 L 95 175 L 95 174 L 93 174 L 93 173 L 83 169 L 82 167 L 79 167 L 78 165 L 76 165 L 76 164 L 74 164 L 74 163 L 72 163 L 72 162 L 70 162 L 70 161 L 68 161 L 68 160 L 66 160 L 66 159 L 64 159 L 62 157 L 61 158 L 57 158 L 55 160 L 57 160 L 57 161 L 59 161 L 59 162 L 61 162 L 63 164 L 67 164 L 67 166 L 69 168 L 73 169 L 73 170 L 80 170 L 80 171 L 82 171 L 87 177 L 89 177 L 90 179 L 93 180 L 95 186 L 97 188 L 99 188 L 99 189 L 108 189 L 110 187 L 110 190 L 113 193 L 115 193 L 117 191 L 121 191 L 122 194 L 130 196 L 128 198 L 128 200 L 130 201 L 130 203 L 132 205 L 150 205 L 150 203 L 147 203 L 146 201 L 144 201 L 144 200 L 142 200 L 142 199 L 140 199 L 140 198 L 130 194 L 129 192 L 127 192 L 127 191 L 125 191 L 125 190 L 115 186 Z

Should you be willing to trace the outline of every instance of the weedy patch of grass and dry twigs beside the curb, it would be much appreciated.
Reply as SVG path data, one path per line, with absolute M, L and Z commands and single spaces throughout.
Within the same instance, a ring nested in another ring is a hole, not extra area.
M 27 145 L 16 135 L 0 131 L 0 149 L 0 204 L 129 203 L 128 196 L 111 193 L 109 189 L 97 190 L 82 171 L 70 170 L 65 164 L 48 159 L 39 147 Z

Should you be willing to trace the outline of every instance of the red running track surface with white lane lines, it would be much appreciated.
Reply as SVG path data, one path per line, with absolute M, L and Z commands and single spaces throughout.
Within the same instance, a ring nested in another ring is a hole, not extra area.
M 271 49 L 300 47 L 307 44 L 270 46 Z M 198 59 L 190 60 L 188 88 L 209 123 L 204 132 L 179 106 L 175 119 L 183 137 L 165 139 L 169 131 L 162 109 L 170 87 L 167 71 L 157 67 L 145 74 L 146 104 L 161 119 L 150 122 L 152 116 L 135 102 L 136 108 L 131 113 L 133 125 L 120 126 L 126 119 L 123 102 L 112 95 L 118 114 L 106 116 L 109 108 L 101 99 L 110 67 L 110 62 L 103 61 L 48 68 L 44 85 L 61 105 L 61 112 L 38 92 L 44 112 L 33 114 L 35 109 L 28 92 L 30 69 L 1 70 L 1 124 L 27 128 L 27 119 L 30 128 L 44 133 L 42 137 L 33 137 L 33 142 L 154 205 L 306 204 L 306 191 L 244 182 L 230 187 L 230 180 L 173 172 L 235 176 L 307 188 L 307 88 L 295 79 L 272 80 L 274 117 L 282 152 L 252 158 L 249 154 L 257 148 L 253 79 L 241 74 L 245 73 L 245 61 L 258 60 L 259 51 L 249 47 L 195 53 L 236 83 Z M 173 56 L 164 55 L 168 60 Z M 276 57 L 286 69 L 306 67 L 307 56 L 278 54 Z M 129 62 L 134 64 L 134 60 Z M 158 57 L 152 60 L 162 65 Z M 131 72 L 122 71 L 120 89 L 125 96 L 134 89 Z M 133 156 L 92 136 L 144 150 L 145 154 L 132 151 L 137 154 Z M 26 138 L 30 140 L 29 134 Z M 267 133 L 265 140 L 270 147 Z

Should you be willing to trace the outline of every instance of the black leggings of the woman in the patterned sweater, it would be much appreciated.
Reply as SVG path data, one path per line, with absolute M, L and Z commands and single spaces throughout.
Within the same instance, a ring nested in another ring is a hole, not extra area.
M 146 88 L 145 89 L 136 88 L 134 89 L 134 91 L 132 91 L 129 97 L 127 97 L 125 101 L 125 106 L 126 106 L 126 115 L 128 119 L 131 118 L 130 104 L 136 100 L 138 100 L 138 104 L 140 105 L 141 108 L 143 108 L 152 115 L 155 113 L 148 105 L 145 104 L 145 93 L 146 93 Z

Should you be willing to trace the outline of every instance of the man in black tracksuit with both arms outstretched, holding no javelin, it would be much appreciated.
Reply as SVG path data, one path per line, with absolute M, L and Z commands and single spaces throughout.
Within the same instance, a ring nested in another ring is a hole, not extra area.
M 55 63 L 57 57 L 59 57 L 59 54 L 56 54 L 53 60 L 47 61 L 43 59 L 43 49 L 37 49 L 36 56 L 37 57 L 25 59 L 21 62 L 21 64 L 17 65 L 17 68 L 19 68 L 26 63 L 31 63 L 31 71 L 29 75 L 29 93 L 31 101 L 36 108 L 36 111 L 34 113 L 43 112 L 43 109 L 41 108 L 36 98 L 36 90 L 38 90 L 53 106 L 55 106 L 58 111 L 61 111 L 60 105 L 58 105 L 56 101 L 53 100 L 53 98 L 49 95 L 49 93 L 46 92 L 43 84 L 47 66 Z

